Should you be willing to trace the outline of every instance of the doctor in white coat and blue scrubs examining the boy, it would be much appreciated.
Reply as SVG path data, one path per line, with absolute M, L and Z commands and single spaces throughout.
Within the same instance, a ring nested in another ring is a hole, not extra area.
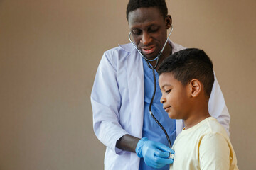
M 130 0 L 127 21 L 137 48 L 146 58 L 154 59 L 164 46 L 172 23 L 166 2 Z M 183 49 L 169 41 L 159 63 Z M 105 169 L 169 169 L 173 162 L 169 154 L 173 150 L 166 147 L 168 142 L 164 132 L 149 115 L 153 91 L 152 71 L 131 43 L 104 53 L 92 87 L 91 102 L 95 135 L 107 147 Z M 173 144 L 183 123 L 182 120 L 169 119 L 160 98 L 157 83 L 152 112 Z M 208 107 L 210 115 L 228 132 L 230 115 L 216 77 Z

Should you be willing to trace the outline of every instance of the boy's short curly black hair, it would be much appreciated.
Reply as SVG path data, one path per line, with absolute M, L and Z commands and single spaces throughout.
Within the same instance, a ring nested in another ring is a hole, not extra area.
M 198 79 L 203 84 L 206 96 L 210 97 L 214 83 L 213 62 L 203 50 L 188 48 L 175 52 L 166 57 L 157 72 L 159 76 L 164 72 L 171 72 L 183 85 L 192 79 Z

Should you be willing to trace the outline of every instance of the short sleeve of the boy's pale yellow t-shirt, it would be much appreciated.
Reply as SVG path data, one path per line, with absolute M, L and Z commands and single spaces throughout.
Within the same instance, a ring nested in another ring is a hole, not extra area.
M 223 135 L 209 133 L 202 138 L 199 146 L 199 164 L 201 170 L 230 168 L 230 147 Z

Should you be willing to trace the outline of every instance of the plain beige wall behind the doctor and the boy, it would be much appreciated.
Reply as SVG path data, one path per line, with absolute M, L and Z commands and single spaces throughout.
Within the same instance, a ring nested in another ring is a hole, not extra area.
M 254 0 L 166 0 L 171 40 L 213 60 L 240 169 L 256 169 Z M 0 169 L 103 169 L 90 91 L 127 43 L 125 1 L 0 0 Z

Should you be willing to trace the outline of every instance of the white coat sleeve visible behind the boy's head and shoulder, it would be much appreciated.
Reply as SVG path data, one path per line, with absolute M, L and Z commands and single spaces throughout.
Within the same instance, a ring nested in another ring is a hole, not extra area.
M 223 125 L 225 130 L 229 132 L 229 123 L 230 123 L 230 114 L 228 113 L 228 108 L 225 105 L 225 100 L 223 97 L 223 93 L 220 89 L 220 85 L 218 84 L 218 80 L 214 73 L 214 84 L 213 89 L 210 94 L 210 99 L 208 103 L 209 113 L 213 118 L 216 118 L 218 122 Z

